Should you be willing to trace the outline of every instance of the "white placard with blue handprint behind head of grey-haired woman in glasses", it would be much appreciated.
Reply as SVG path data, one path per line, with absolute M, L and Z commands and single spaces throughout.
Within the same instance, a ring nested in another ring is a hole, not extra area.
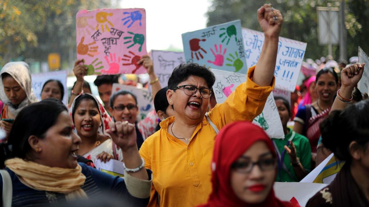
M 142 120 L 146 117 L 146 115 L 154 110 L 154 102 L 152 99 L 151 91 L 147 89 L 135 88 L 127 85 L 121 85 L 118 83 L 113 84 L 113 93 L 124 90 L 130 91 L 137 97 L 137 106 L 139 109 L 138 119 Z

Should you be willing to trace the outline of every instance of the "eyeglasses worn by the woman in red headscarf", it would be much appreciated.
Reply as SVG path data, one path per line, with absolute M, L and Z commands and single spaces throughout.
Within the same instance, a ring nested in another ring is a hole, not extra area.
M 271 159 L 261 159 L 257 162 L 248 162 L 248 161 L 234 162 L 231 165 L 231 168 L 237 172 L 250 173 L 255 165 L 258 165 L 261 171 L 270 171 L 275 169 L 276 164 L 277 159 L 271 158 Z

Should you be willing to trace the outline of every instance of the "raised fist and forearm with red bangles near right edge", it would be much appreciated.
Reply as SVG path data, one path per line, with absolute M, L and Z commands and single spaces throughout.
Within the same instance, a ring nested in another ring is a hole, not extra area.
M 365 63 L 355 63 L 349 67 L 344 68 L 341 71 L 341 88 L 339 89 L 339 95 L 345 99 L 352 98 L 352 91 L 354 87 L 358 84 L 359 80 L 363 76 Z M 349 102 L 342 101 L 339 99 L 337 93 L 337 97 L 334 99 L 332 109 L 330 112 L 334 110 L 343 110 Z

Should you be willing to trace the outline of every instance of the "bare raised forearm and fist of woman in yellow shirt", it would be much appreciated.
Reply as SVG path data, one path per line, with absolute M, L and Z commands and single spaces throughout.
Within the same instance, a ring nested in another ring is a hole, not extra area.
M 258 21 L 265 39 L 252 81 L 259 86 L 268 86 L 272 82 L 276 67 L 283 17 L 280 11 L 273 8 L 271 4 L 264 4 L 258 10 Z

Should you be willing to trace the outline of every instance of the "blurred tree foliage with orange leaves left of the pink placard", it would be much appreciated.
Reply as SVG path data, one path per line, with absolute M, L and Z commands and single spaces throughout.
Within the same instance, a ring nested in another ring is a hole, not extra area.
M 76 48 L 76 14 L 79 10 L 111 7 L 109 0 L 0 0 L 0 66 L 12 59 L 47 62 L 60 53 L 68 63 Z

